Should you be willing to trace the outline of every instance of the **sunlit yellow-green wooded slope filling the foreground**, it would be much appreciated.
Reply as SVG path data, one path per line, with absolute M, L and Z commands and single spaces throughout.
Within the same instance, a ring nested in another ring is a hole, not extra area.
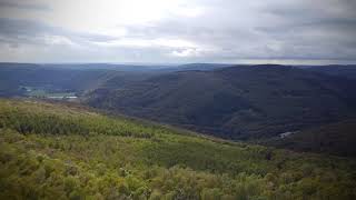
M 356 199 L 353 159 L 0 101 L 0 199 Z

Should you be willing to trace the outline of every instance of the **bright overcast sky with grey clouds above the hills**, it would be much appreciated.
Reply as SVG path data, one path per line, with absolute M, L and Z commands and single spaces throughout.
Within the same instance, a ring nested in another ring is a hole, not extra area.
M 0 61 L 356 63 L 355 0 L 0 0 Z

